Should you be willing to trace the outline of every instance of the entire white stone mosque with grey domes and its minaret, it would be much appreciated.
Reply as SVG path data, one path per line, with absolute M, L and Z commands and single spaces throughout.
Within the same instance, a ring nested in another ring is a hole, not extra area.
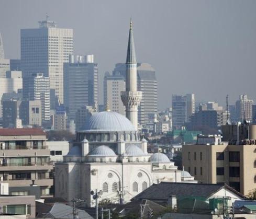
M 81 198 L 95 206 L 91 191 L 102 191 L 99 201 L 128 202 L 153 183 L 197 183 L 188 172 L 177 170 L 162 153 L 149 154 L 147 141 L 138 132 L 136 55 L 130 23 L 126 59 L 126 91 L 121 99 L 126 117 L 109 111 L 94 113 L 86 121 L 63 163 L 55 164 L 55 197 Z

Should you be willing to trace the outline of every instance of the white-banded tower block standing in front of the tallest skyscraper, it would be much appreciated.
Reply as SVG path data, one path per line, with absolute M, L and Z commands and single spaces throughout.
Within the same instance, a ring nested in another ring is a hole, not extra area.
M 42 107 L 42 122 L 50 120 L 50 78 L 43 73 L 31 74 L 23 78 L 26 87 L 23 89 L 23 97 L 26 100 L 40 100 Z

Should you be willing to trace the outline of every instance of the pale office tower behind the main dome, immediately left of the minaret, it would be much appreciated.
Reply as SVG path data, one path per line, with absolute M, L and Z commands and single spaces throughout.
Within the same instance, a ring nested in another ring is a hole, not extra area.
M 110 75 L 105 73 L 104 77 L 104 105 L 111 111 L 125 115 L 125 106 L 121 100 L 121 91 L 125 91 L 125 78 L 120 74 Z

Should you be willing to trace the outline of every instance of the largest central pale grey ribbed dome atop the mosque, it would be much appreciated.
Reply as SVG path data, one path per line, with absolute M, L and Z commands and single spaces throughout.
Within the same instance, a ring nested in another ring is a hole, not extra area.
M 133 131 L 135 132 L 136 129 L 123 115 L 117 112 L 98 112 L 91 116 L 85 122 L 83 131 L 96 131 L 96 132 L 106 132 L 106 131 Z

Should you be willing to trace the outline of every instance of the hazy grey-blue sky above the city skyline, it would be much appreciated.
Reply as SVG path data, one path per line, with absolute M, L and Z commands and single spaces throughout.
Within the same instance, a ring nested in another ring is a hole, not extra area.
M 12 1 L 0 0 L 0 32 L 7 58 L 20 57 L 20 29 L 38 27 L 46 13 L 74 29 L 75 54 L 94 54 L 103 75 L 125 62 L 129 19 L 138 62 L 158 78 L 159 108 L 172 94 L 230 103 L 247 93 L 256 101 L 256 1 Z M 100 98 L 102 99 L 102 97 Z

